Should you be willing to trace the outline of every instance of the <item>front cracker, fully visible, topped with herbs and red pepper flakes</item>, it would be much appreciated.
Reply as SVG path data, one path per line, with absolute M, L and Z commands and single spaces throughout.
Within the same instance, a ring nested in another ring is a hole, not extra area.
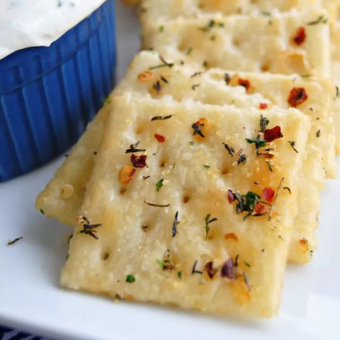
M 309 117 L 133 93 L 111 108 L 61 285 L 276 314 Z

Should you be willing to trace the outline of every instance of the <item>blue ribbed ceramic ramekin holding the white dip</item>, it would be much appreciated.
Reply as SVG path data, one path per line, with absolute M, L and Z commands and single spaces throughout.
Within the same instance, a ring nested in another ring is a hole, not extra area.
M 0 60 L 0 182 L 77 142 L 114 86 L 114 0 L 50 47 Z

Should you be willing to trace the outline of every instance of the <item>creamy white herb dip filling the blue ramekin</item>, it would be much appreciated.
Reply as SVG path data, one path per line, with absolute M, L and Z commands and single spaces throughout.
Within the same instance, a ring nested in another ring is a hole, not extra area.
M 105 0 L 1 0 L 0 59 L 25 47 L 49 46 Z

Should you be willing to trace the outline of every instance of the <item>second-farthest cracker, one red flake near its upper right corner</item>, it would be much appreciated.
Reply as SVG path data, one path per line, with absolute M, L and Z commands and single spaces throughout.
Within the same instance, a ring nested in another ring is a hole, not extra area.
M 328 77 L 329 26 L 325 11 L 273 13 L 270 17 L 223 17 L 147 22 L 142 26 L 146 49 L 163 57 L 247 72 Z M 318 22 L 319 18 L 325 18 Z M 317 24 L 313 24 L 318 22 Z

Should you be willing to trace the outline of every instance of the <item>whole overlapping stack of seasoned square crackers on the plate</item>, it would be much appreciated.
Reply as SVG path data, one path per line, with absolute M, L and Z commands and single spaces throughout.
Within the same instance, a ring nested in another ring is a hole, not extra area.
M 74 227 L 62 287 L 278 312 L 336 176 L 338 6 L 142 1 L 144 50 L 36 200 Z

